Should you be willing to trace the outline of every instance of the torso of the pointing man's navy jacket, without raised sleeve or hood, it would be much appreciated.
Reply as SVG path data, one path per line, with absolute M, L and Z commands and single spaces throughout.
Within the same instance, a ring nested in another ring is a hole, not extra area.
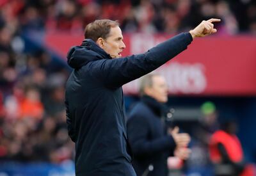
M 76 175 L 132 175 L 122 88 L 106 87 L 90 68 L 88 63 L 75 69 L 66 87 L 68 131 L 76 142 Z

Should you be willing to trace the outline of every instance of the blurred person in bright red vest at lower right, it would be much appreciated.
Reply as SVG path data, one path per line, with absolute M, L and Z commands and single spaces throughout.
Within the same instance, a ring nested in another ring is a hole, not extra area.
M 209 143 L 211 161 L 216 175 L 240 175 L 244 170 L 243 148 L 236 136 L 236 122 L 225 120 Z

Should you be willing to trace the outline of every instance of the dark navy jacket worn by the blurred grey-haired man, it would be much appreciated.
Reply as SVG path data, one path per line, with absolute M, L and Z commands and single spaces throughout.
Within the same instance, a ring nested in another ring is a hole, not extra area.
M 154 170 L 148 176 L 167 175 L 166 161 L 176 145 L 172 136 L 166 134 L 163 118 L 164 106 L 151 97 L 144 96 L 132 109 L 127 121 L 127 134 L 134 160 L 132 165 L 138 176 L 149 164 Z

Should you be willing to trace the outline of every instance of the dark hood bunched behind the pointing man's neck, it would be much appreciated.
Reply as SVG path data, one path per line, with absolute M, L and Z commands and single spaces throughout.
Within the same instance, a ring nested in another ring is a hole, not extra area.
M 93 40 L 85 39 L 80 46 L 72 47 L 67 54 L 67 63 L 72 68 L 81 68 L 90 61 L 111 59 Z

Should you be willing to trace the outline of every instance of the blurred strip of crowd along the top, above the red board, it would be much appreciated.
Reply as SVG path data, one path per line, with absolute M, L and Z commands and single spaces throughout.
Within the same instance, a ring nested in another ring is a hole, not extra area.
M 1 0 L 0 8 L 1 23 L 11 29 L 76 33 L 95 19 L 112 19 L 127 33 L 178 33 L 218 17 L 221 34 L 256 33 L 252 0 Z

